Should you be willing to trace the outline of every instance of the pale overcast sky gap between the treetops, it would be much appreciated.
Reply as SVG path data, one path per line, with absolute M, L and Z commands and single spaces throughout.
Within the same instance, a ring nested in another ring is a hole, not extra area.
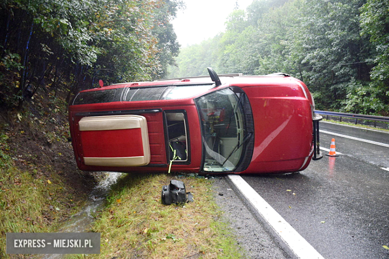
M 239 9 L 245 10 L 253 0 L 184 0 L 187 8 L 172 21 L 181 46 L 199 43 L 224 31 L 224 22 L 236 1 Z

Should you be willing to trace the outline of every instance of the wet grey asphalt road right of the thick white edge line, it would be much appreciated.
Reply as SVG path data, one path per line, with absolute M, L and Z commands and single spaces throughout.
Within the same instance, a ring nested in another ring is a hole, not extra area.
M 345 127 L 325 130 L 354 134 Z M 359 137 L 389 141 L 389 134 L 371 133 Z M 389 147 L 328 133 L 320 137 L 327 148 L 335 137 L 344 155 L 324 156 L 297 174 L 243 179 L 325 259 L 389 258 L 383 248 L 389 247 L 389 171 L 382 169 L 389 167 Z

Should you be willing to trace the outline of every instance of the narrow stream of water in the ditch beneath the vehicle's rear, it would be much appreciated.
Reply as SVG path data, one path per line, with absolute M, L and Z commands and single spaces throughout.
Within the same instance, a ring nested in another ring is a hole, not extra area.
M 80 212 L 70 218 L 58 232 L 86 232 L 94 222 L 94 215 L 103 206 L 111 186 L 124 175 L 107 173 L 106 177 L 92 190 L 89 199 Z M 65 255 L 41 255 L 38 259 L 61 259 Z

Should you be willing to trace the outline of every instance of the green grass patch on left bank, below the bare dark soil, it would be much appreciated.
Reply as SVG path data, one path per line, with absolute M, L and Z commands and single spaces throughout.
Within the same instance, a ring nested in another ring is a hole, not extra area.
M 22 171 L 0 149 L 0 258 L 24 258 L 5 254 L 6 233 L 55 232 L 59 220 L 69 214 L 66 204 L 72 197 L 66 197 L 54 170 L 47 171 L 50 177 Z

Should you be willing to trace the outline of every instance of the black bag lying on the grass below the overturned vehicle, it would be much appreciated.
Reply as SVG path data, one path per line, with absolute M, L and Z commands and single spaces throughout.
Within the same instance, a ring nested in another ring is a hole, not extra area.
M 165 205 L 186 203 L 187 192 L 184 182 L 171 180 L 169 185 L 164 185 L 162 187 L 161 199 Z

